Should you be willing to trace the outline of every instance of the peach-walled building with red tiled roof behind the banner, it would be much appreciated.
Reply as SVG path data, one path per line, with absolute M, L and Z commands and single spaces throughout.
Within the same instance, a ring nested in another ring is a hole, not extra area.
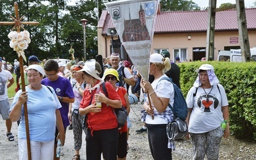
M 246 9 L 250 48 L 256 47 L 255 15 L 256 8 Z M 207 11 L 157 13 L 151 52 L 168 50 L 172 60 L 177 56 L 181 61 L 201 60 L 205 57 L 207 17 Z M 102 57 L 107 57 L 111 54 L 111 36 L 107 35 L 107 30 L 115 28 L 108 11 L 102 12 L 97 27 L 98 51 Z M 216 12 L 214 47 L 214 60 L 220 50 L 240 49 L 236 10 Z M 120 52 L 120 49 L 114 51 Z M 127 59 L 125 49 L 124 59 Z

